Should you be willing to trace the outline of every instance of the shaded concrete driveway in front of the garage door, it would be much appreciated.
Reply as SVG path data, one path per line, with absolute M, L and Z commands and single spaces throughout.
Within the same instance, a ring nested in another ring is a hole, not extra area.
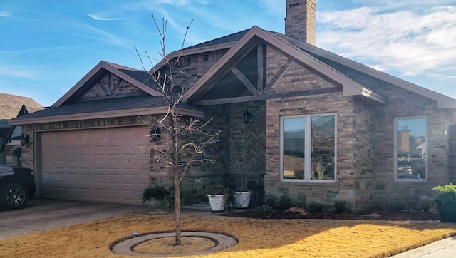
M 143 205 L 30 200 L 21 210 L 0 210 L 0 239 L 130 214 L 171 212 Z

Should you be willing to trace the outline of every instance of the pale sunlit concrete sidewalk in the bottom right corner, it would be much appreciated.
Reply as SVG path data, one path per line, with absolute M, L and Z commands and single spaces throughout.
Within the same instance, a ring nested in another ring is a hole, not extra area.
M 433 242 L 431 244 L 427 244 L 423 247 L 418 247 L 416 249 L 409 250 L 407 252 L 403 252 L 402 254 L 398 254 L 392 256 L 394 258 L 415 258 L 415 257 L 423 257 L 423 258 L 450 258 L 456 257 L 456 237 L 450 237 L 447 239 L 443 239 L 437 242 Z

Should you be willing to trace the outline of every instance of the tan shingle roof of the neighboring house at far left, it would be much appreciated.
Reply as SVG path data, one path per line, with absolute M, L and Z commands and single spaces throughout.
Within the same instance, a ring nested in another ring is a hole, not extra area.
M 32 98 L 0 93 L 0 119 L 16 118 L 22 105 L 26 106 L 29 113 L 43 109 L 43 106 Z

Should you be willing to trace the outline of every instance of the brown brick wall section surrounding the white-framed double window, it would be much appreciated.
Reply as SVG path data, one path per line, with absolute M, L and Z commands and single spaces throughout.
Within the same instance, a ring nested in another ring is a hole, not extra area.
M 265 190 L 274 195 L 288 193 L 300 202 L 318 201 L 332 206 L 335 200 L 346 200 L 351 205 L 358 202 L 354 194 L 354 172 L 362 170 L 353 162 L 357 146 L 352 136 L 356 134 L 353 97 L 341 93 L 267 100 L 266 107 L 266 167 Z M 337 115 L 337 180 L 336 182 L 280 182 L 280 118 L 287 115 L 336 113 Z M 352 208 L 356 209 L 357 207 Z

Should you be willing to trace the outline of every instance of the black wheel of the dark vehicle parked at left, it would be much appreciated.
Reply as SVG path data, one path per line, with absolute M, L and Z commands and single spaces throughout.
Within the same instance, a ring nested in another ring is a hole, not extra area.
M 22 185 L 6 185 L 3 190 L 1 190 L 0 204 L 6 209 L 21 209 L 21 207 L 24 207 L 24 205 L 26 205 L 27 201 L 27 190 Z

